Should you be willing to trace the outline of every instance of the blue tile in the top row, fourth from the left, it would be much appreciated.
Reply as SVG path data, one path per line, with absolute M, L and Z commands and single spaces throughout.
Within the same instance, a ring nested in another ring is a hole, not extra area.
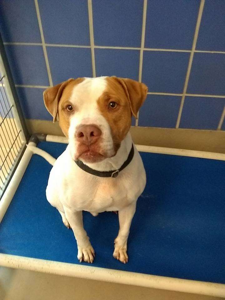
M 199 1 L 148 1 L 145 47 L 161 49 L 192 48 Z

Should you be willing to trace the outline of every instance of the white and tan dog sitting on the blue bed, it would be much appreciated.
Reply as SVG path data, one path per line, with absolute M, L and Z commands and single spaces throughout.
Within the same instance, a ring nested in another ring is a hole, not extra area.
M 83 228 L 83 210 L 93 216 L 118 211 L 120 227 L 113 257 L 128 262 L 130 225 L 146 184 L 135 146 L 128 165 L 120 172 L 115 170 L 128 160 L 132 149 L 131 117 L 137 117 L 147 90 L 143 83 L 131 79 L 99 77 L 69 79 L 44 91 L 48 112 L 54 121 L 58 116 L 60 127 L 69 138 L 67 149 L 50 172 L 47 200 L 58 209 L 65 226 L 73 229 L 80 262 L 94 260 L 94 249 Z M 83 162 L 97 175 L 84 171 L 76 162 Z M 98 175 L 106 171 L 118 176 Z

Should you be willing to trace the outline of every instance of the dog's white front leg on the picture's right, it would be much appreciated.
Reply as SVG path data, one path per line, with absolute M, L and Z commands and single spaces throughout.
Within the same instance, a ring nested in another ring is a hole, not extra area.
M 127 240 L 130 232 L 131 221 L 133 219 L 136 210 L 136 201 L 129 206 L 119 210 L 119 233 L 115 239 L 115 250 L 113 252 L 113 257 L 120 260 L 123 263 L 128 262 L 127 255 Z

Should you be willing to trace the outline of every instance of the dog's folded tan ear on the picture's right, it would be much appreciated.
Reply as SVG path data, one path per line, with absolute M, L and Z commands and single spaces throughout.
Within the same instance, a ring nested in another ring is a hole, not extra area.
M 123 86 L 130 102 L 131 112 L 137 119 L 138 111 L 147 97 L 148 87 L 144 83 L 132 79 L 116 78 Z

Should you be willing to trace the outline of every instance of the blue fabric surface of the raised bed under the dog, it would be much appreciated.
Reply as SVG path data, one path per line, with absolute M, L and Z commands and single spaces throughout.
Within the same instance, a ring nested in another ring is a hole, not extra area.
M 66 145 L 42 142 L 38 147 L 58 157 Z M 147 186 L 131 226 L 129 262 L 113 258 L 118 216 L 84 212 L 96 252 L 93 266 L 225 283 L 225 162 L 141 156 Z M 0 224 L 0 252 L 78 264 L 73 232 L 46 200 L 50 170 L 43 158 L 33 155 Z

